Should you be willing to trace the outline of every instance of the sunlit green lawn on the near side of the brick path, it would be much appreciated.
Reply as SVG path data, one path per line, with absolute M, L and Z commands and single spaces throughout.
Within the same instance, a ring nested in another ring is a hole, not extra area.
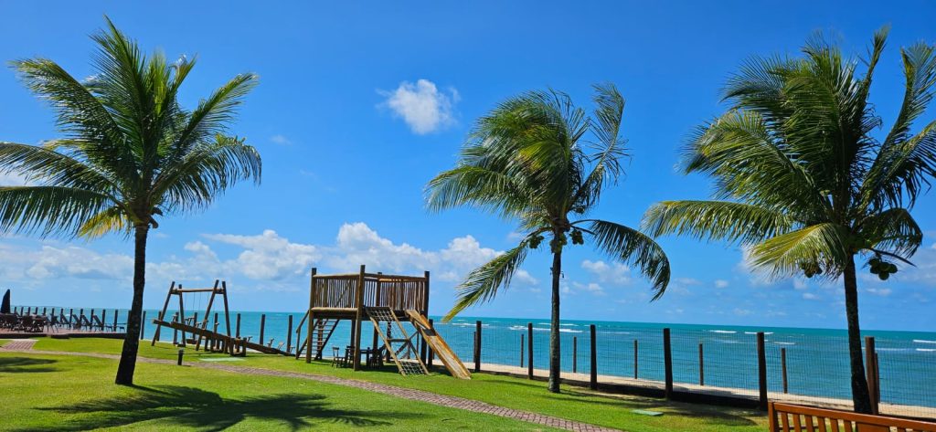
M 116 361 L 0 353 L 3 430 L 553 430 L 319 382 Z

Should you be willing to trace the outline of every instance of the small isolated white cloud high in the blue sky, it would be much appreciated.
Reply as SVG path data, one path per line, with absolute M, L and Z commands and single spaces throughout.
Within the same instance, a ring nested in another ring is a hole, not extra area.
M 426 135 L 455 122 L 459 93 L 454 88 L 440 92 L 429 79 L 419 79 L 415 84 L 402 81 L 397 90 L 380 94 L 387 96 L 382 105 L 401 117 L 414 134 Z

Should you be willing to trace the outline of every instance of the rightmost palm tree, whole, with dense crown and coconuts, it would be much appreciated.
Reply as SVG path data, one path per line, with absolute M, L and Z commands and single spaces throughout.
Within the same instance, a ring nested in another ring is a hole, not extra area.
M 868 100 L 885 48 L 878 31 L 863 76 L 858 62 L 815 37 L 798 58 L 754 58 L 728 81 L 731 108 L 702 125 L 684 152 L 687 173 L 714 178 L 711 201 L 664 201 L 644 227 L 728 240 L 769 275 L 841 278 L 855 410 L 870 412 L 858 325 L 856 258 L 886 280 L 923 233 L 910 209 L 936 174 L 936 122 L 911 127 L 933 96 L 936 56 L 917 43 L 901 50 L 906 93 L 883 140 Z

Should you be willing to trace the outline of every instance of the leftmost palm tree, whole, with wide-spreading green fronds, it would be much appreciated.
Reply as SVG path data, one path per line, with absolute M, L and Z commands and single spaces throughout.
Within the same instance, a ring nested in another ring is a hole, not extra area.
M 186 110 L 177 95 L 194 60 L 147 58 L 107 22 L 93 39 L 96 74 L 78 80 L 47 59 L 13 62 L 25 84 L 50 101 L 64 137 L 42 146 L 0 142 L 0 172 L 30 184 L 0 187 L 0 232 L 43 237 L 135 238 L 133 302 L 118 384 L 132 384 L 139 345 L 146 238 L 157 216 L 203 209 L 239 180 L 260 180 L 260 155 L 227 135 L 256 83 L 238 75 Z

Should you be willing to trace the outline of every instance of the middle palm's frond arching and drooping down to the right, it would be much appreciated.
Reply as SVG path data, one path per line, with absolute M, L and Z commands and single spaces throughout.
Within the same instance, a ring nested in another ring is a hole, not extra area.
M 652 238 L 619 223 L 585 220 L 598 250 L 629 266 L 636 266 L 651 281 L 653 300 L 664 295 L 669 284 L 669 258 Z

